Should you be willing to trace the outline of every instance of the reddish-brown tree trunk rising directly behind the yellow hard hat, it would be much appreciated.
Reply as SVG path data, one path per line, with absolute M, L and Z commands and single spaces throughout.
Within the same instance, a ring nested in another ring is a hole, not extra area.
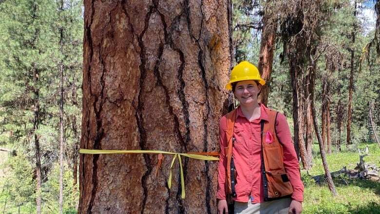
M 268 96 L 270 90 L 270 75 L 272 73 L 273 52 L 276 43 L 276 29 L 277 20 L 273 16 L 272 1 L 266 2 L 264 17 L 263 17 L 263 33 L 260 45 L 259 57 L 259 71 L 261 78 L 266 81 L 262 87 L 260 95 L 258 96 L 259 102 L 263 104 L 268 103 Z

